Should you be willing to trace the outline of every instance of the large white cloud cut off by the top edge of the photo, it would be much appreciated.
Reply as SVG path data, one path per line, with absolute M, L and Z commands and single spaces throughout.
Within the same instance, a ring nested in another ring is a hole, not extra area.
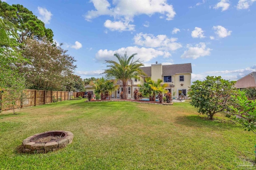
M 142 14 L 152 16 L 153 14 L 160 13 L 166 16 L 166 20 L 172 20 L 176 15 L 173 6 L 169 5 L 167 0 L 131 0 L 129 3 L 127 3 L 127 0 L 113 0 L 113 7 L 107 0 L 91 0 L 91 2 L 94 4 L 95 10 L 88 11 L 84 15 L 87 21 L 91 21 L 98 16 L 107 15 L 114 17 L 116 20 L 114 22 L 121 21 L 130 25 L 130 22 L 133 22 L 134 16 Z M 110 22 L 108 21 L 108 23 Z

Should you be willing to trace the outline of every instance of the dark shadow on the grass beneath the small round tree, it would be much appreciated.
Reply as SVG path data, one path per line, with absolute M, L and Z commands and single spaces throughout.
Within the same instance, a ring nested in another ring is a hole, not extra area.
M 223 129 L 233 129 L 241 127 L 240 124 L 232 119 L 224 120 L 214 118 L 210 120 L 207 116 L 202 117 L 199 115 L 188 115 L 176 117 L 175 123 L 195 128 L 214 128 L 215 130 L 222 131 Z

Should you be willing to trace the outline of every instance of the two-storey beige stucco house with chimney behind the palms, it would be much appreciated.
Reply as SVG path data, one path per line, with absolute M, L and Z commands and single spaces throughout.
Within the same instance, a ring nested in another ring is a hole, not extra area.
M 132 78 L 127 82 L 127 98 L 134 98 L 133 93 L 135 89 L 139 89 L 138 85 L 143 84 L 144 78 L 151 77 L 152 80 L 157 81 L 157 79 L 162 79 L 163 84 L 168 84 L 166 89 L 169 92 L 176 92 L 176 98 L 180 94 L 186 96 L 189 87 L 191 86 L 191 73 L 192 67 L 191 63 L 187 64 L 172 64 L 172 65 L 162 65 L 151 64 L 151 66 L 140 67 L 146 76 L 139 76 L 138 79 Z M 118 80 L 119 85 L 118 90 L 112 92 L 112 98 L 120 98 L 120 93 L 123 91 L 122 81 Z M 93 86 L 87 85 L 86 92 L 94 92 Z M 187 97 L 185 97 L 186 99 Z

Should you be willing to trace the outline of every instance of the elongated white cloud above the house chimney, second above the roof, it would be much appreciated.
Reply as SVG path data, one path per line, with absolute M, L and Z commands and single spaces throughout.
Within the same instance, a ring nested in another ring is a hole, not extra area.
M 159 50 L 171 50 L 175 51 L 182 47 L 180 43 L 177 43 L 177 38 L 168 38 L 166 35 L 137 33 L 134 36 L 134 43 L 145 47 L 157 48 Z

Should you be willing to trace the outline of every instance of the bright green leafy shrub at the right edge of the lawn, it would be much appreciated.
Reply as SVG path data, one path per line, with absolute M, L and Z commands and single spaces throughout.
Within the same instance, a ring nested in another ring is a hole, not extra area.
M 256 134 L 256 100 L 248 100 L 246 92 L 238 90 L 237 94 L 231 95 L 231 113 L 238 116 L 237 121 L 241 123 L 244 130 Z

